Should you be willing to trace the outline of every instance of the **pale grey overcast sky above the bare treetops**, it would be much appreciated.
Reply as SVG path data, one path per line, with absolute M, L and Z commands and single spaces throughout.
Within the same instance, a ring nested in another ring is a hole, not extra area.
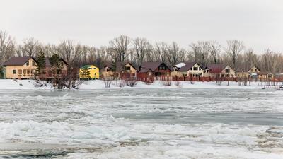
M 99 47 L 113 37 L 178 42 L 243 40 L 255 52 L 283 52 L 282 0 L 0 0 L 0 30 Z

